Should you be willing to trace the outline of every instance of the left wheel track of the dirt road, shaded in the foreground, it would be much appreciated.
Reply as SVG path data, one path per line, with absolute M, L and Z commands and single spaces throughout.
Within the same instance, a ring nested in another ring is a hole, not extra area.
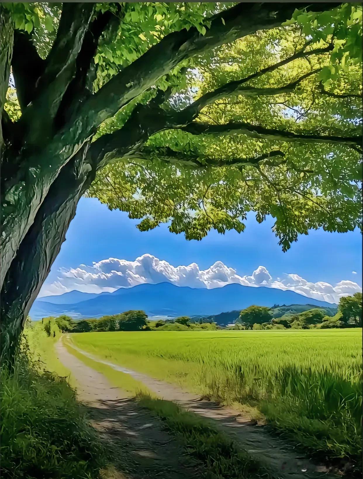
M 161 422 L 138 407 L 128 394 L 70 354 L 62 342 L 55 346 L 62 363 L 77 382 L 77 396 L 93 419 L 92 425 L 115 451 L 121 473 L 112 479 L 197 479 L 202 466 L 185 456 L 181 445 Z M 124 475 L 125 474 L 125 475 Z

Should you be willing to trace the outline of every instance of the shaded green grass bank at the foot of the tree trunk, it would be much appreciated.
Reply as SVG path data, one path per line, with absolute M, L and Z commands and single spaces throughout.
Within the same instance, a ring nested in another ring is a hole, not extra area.
M 1 368 L 1 478 L 96 479 L 109 457 L 69 384 L 22 352 Z

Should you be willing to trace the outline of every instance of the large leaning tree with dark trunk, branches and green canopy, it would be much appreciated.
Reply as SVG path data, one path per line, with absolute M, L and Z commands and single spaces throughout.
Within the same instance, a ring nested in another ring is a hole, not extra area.
M 270 214 L 284 251 L 360 225 L 359 4 L 2 3 L 0 26 L 3 354 L 83 194 L 187 239 Z

